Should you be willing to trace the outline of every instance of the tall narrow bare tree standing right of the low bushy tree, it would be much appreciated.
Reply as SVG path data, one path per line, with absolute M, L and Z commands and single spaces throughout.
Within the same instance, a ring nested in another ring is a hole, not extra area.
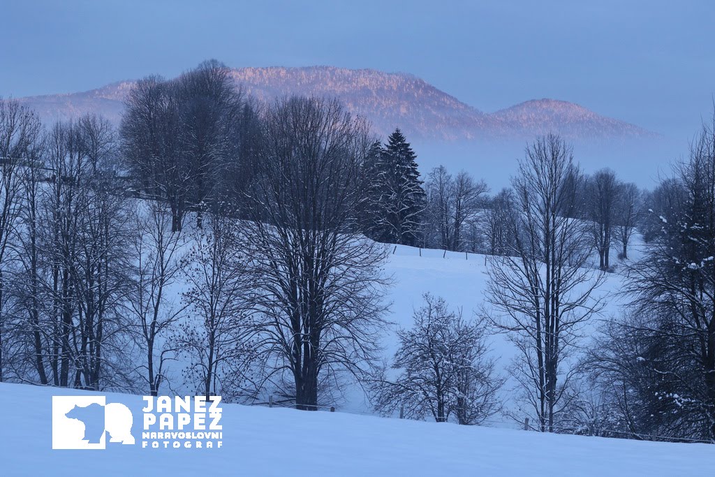
M 571 370 L 566 356 L 578 325 L 596 313 L 602 280 L 586 267 L 588 230 L 578 216 L 581 174 L 571 147 L 553 134 L 526 149 L 513 179 L 515 256 L 490 257 L 486 315 L 521 351 L 513 369 L 536 411 L 541 431 L 553 431 Z M 565 369 L 566 368 L 566 369 Z

